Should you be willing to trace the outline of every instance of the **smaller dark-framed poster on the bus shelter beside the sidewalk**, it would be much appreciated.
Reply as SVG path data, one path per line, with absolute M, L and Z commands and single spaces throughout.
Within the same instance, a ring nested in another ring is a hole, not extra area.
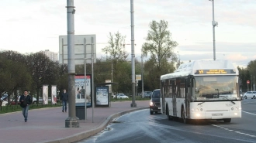
M 96 87 L 96 105 L 109 105 L 109 87 Z

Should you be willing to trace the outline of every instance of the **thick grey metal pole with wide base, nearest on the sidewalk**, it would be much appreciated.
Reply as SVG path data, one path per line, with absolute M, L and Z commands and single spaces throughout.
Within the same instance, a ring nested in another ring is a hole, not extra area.
M 79 128 L 79 118 L 75 116 L 74 89 L 74 0 L 67 0 L 67 73 L 68 73 L 68 117 L 66 128 Z

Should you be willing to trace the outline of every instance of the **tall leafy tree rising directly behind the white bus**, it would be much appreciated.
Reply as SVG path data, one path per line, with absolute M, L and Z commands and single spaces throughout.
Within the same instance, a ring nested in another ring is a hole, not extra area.
M 147 42 L 142 46 L 143 56 L 150 55 L 150 59 L 145 63 L 144 71 L 147 82 L 153 90 L 160 87 L 160 76 L 171 73 L 175 70 L 177 55 L 174 49 L 178 43 L 171 39 L 171 32 L 168 31 L 168 22 L 150 22 L 150 30 L 147 33 Z

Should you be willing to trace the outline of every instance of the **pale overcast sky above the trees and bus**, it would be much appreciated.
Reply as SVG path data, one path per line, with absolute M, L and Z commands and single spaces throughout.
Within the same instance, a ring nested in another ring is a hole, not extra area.
M 19 53 L 59 51 L 67 35 L 67 1 L 1 0 L 1 47 Z M 130 44 L 130 0 L 74 0 L 75 35 L 95 34 L 97 57 L 106 56 L 109 32 L 119 31 Z M 247 66 L 256 59 L 256 1 L 215 0 L 216 60 Z M 209 0 L 134 0 L 135 56 L 152 20 L 165 20 L 178 43 L 181 61 L 213 60 L 213 2 Z M 130 45 L 126 51 L 131 53 Z M 129 56 L 130 57 L 130 56 Z

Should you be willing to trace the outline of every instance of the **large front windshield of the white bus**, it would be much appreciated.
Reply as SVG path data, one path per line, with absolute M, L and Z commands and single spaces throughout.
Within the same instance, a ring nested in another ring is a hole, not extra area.
M 195 77 L 192 100 L 238 100 L 235 76 Z

